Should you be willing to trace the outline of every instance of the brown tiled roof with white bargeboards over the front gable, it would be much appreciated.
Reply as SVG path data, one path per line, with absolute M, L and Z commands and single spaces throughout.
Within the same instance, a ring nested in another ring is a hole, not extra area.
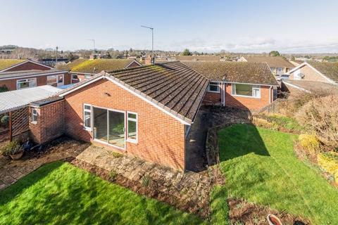
M 208 86 L 206 77 L 187 65 L 174 61 L 110 73 L 101 72 L 66 89 L 61 96 L 103 77 L 188 124 L 194 121 Z

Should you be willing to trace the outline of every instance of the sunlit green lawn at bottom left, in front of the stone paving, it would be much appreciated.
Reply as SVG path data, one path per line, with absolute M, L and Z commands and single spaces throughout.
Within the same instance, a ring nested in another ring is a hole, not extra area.
M 0 224 L 203 224 L 67 162 L 44 165 L 0 191 Z

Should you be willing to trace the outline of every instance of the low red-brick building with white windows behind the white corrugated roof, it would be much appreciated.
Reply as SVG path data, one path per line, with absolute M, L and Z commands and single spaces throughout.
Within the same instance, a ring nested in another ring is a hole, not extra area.
M 63 86 L 70 84 L 67 70 L 23 70 L 0 72 L 0 87 L 8 91 L 27 89 L 43 85 Z

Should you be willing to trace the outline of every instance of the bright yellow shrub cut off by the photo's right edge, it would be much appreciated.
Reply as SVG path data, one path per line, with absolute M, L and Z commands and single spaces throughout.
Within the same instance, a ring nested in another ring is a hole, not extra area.
M 338 184 L 338 153 L 320 153 L 317 156 L 317 161 L 320 167 L 334 176 L 334 181 Z

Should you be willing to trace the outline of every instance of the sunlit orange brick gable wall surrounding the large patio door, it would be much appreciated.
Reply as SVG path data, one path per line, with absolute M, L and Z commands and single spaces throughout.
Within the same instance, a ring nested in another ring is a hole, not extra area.
M 126 142 L 125 153 L 184 169 L 184 124 L 113 82 L 101 79 L 65 96 L 65 133 L 84 141 L 93 139 L 92 131 L 83 129 L 84 103 L 137 113 L 138 143 Z

